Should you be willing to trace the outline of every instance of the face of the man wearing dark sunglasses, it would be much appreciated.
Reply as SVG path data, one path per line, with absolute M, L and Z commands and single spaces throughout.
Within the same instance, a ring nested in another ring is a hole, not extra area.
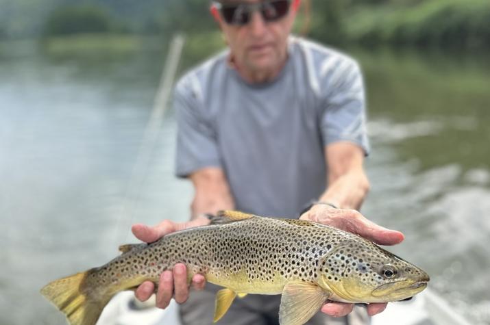
M 224 1 L 260 3 L 259 0 Z M 267 1 L 262 1 L 267 2 Z M 265 21 L 255 10 L 245 25 L 226 23 L 221 15 L 221 29 L 230 47 L 234 63 L 247 73 L 267 73 L 281 68 L 287 57 L 287 40 L 293 26 L 295 12 L 291 8 L 286 16 Z

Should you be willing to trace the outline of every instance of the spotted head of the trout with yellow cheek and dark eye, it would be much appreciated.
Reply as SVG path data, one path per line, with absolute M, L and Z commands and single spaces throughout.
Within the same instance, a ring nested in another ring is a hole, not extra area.
M 427 287 L 429 276 L 412 263 L 371 242 L 349 241 L 319 265 L 319 285 L 331 300 L 391 302 L 411 298 Z

